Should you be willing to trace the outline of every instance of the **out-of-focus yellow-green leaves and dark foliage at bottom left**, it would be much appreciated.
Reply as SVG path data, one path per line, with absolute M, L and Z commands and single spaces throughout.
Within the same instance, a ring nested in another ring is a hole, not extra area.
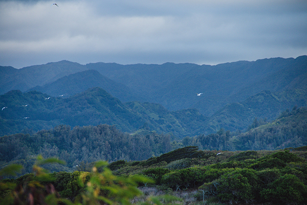
M 74 172 L 47 174 L 40 167 L 45 163 L 59 162 L 54 158 L 44 160 L 38 157 L 33 166 L 33 174 L 19 177 L 17 180 L 0 182 L 0 204 L 131 204 L 131 200 L 142 195 L 138 183 L 152 180 L 142 176 L 119 177 L 106 168 L 107 162 L 95 163 L 92 172 Z M 0 176 L 14 174 L 20 170 L 14 165 L 1 170 Z M 99 168 L 100 172 L 98 172 Z M 57 190 L 60 190 L 58 192 Z M 62 197 L 62 196 L 64 197 Z M 168 204 L 168 201 L 180 201 L 173 196 L 149 197 L 135 204 Z

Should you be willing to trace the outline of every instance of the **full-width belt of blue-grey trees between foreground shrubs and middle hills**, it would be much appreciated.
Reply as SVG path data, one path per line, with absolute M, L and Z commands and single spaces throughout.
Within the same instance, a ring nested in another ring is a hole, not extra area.
M 128 134 L 108 125 L 75 128 L 61 125 L 34 134 L 0 137 L 0 166 L 21 163 L 26 168 L 24 173 L 27 173 L 38 154 L 45 158 L 59 157 L 67 162 L 66 166 L 52 167 L 52 171 L 73 171 L 76 165 L 86 167 L 97 160 L 145 160 L 187 146 L 215 151 L 297 148 L 307 146 L 306 133 L 306 108 L 284 111 L 273 122 L 255 119 L 244 133 L 221 129 L 209 135 L 187 136 L 182 140 L 170 134 L 146 130 L 146 126 Z

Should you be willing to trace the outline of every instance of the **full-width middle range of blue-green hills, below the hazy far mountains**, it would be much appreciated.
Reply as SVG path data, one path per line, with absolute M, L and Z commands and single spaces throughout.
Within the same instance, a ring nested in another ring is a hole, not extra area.
M 85 71 L 91 72 L 91 71 Z M 113 85 L 113 84 L 112 84 Z M 10 91 L 0 96 L 0 135 L 37 132 L 57 125 L 116 125 L 123 132 L 146 128 L 179 138 L 216 133 L 220 129 L 245 131 L 255 118 L 275 119 L 282 111 L 307 104 L 306 90 L 262 91 L 242 103 L 228 104 L 211 117 L 197 109 L 168 111 L 153 103 L 121 103 L 101 88 L 71 97 L 51 97 L 37 91 Z

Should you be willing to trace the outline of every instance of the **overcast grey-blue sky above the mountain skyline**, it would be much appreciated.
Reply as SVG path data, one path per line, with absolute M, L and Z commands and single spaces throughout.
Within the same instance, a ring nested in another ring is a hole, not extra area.
M 216 65 L 306 54 L 306 0 L 0 1 L 0 66 Z

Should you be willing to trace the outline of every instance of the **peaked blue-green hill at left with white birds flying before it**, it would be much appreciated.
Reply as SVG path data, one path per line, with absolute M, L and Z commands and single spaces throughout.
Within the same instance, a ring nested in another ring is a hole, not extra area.
M 142 119 L 106 91 L 93 88 L 69 98 L 37 91 L 11 91 L 0 96 L 1 134 L 51 129 L 57 125 L 118 125 L 123 131 L 141 127 Z

